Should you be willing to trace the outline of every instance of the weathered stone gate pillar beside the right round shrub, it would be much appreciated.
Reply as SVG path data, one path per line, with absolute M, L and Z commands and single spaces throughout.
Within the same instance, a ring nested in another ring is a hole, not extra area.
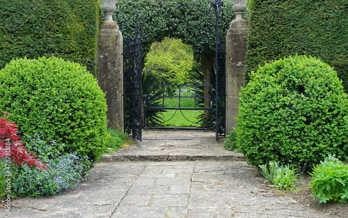
M 245 5 L 235 5 L 237 15 L 226 35 L 226 134 L 237 127 L 239 93 L 245 82 L 248 22 L 242 18 Z

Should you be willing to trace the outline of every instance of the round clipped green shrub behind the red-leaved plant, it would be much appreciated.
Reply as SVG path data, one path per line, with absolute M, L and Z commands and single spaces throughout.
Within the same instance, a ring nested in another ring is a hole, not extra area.
M 96 161 L 106 131 L 106 100 L 85 67 L 56 57 L 13 60 L 0 71 L 0 111 L 24 138 L 43 134 L 63 153 Z

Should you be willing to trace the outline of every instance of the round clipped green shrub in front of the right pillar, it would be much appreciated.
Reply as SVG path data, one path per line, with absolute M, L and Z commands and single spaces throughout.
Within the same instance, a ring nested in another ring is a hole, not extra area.
M 336 72 L 294 56 L 260 67 L 240 95 L 238 147 L 253 165 L 308 171 L 327 154 L 348 157 L 348 99 Z

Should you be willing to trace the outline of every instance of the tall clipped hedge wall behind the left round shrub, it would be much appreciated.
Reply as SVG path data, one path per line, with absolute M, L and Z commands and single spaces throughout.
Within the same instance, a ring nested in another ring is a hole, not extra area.
M 56 56 L 95 74 L 98 0 L 0 0 L 0 69 L 14 58 Z

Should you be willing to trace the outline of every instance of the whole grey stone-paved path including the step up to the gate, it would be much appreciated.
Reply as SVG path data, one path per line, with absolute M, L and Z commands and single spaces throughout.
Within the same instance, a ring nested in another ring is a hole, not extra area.
M 10 213 L 0 210 L 0 217 L 324 217 L 264 184 L 242 155 L 226 155 L 214 132 L 144 134 L 142 143 L 103 157 L 113 162 L 98 163 L 76 189 L 19 198 Z M 141 161 L 120 161 L 127 159 Z

